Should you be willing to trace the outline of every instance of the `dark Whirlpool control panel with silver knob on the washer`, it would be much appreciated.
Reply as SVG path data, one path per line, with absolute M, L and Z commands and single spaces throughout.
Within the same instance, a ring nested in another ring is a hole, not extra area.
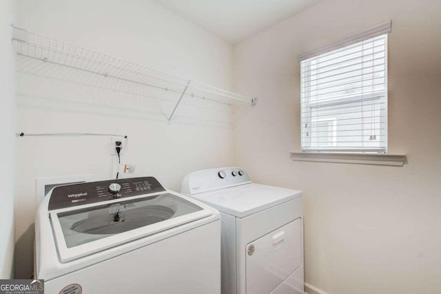
M 75 207 L 161 191 L 165 191 L 165 189 L 154 177 L 83 182 L 55 187 L 50 194 L 48 209 Z

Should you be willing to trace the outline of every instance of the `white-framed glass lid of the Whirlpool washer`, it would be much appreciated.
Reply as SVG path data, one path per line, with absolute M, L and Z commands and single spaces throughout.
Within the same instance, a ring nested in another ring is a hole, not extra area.
M 50 211 L 61 262 L 211 216 L 213 211 L 172 193 L 115 199 Z

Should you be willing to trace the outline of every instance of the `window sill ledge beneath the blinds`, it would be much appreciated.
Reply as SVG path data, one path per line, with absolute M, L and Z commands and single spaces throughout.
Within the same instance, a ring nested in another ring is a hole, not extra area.
M 407 163 L 406 155 L 332 152 L 291 152 L 291 160 L 353 163 L 358 165 L 389 165 L 402 167 Z

